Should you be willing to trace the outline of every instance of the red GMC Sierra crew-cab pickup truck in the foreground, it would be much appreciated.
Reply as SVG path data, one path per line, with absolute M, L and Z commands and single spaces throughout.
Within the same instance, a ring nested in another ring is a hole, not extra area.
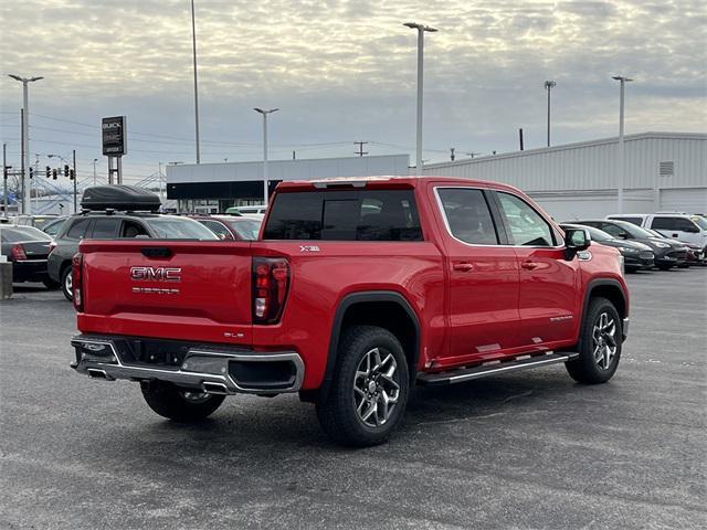
M 226 394 L 298 392 L 349 445 L 387 439 L 413 384 L 619 364 L 615 248 L 562 231 L 515 188 L 451 178 L 281 183 L 254 242 L 83 241 L 76 371 L 139 381 L 198 421 Z

